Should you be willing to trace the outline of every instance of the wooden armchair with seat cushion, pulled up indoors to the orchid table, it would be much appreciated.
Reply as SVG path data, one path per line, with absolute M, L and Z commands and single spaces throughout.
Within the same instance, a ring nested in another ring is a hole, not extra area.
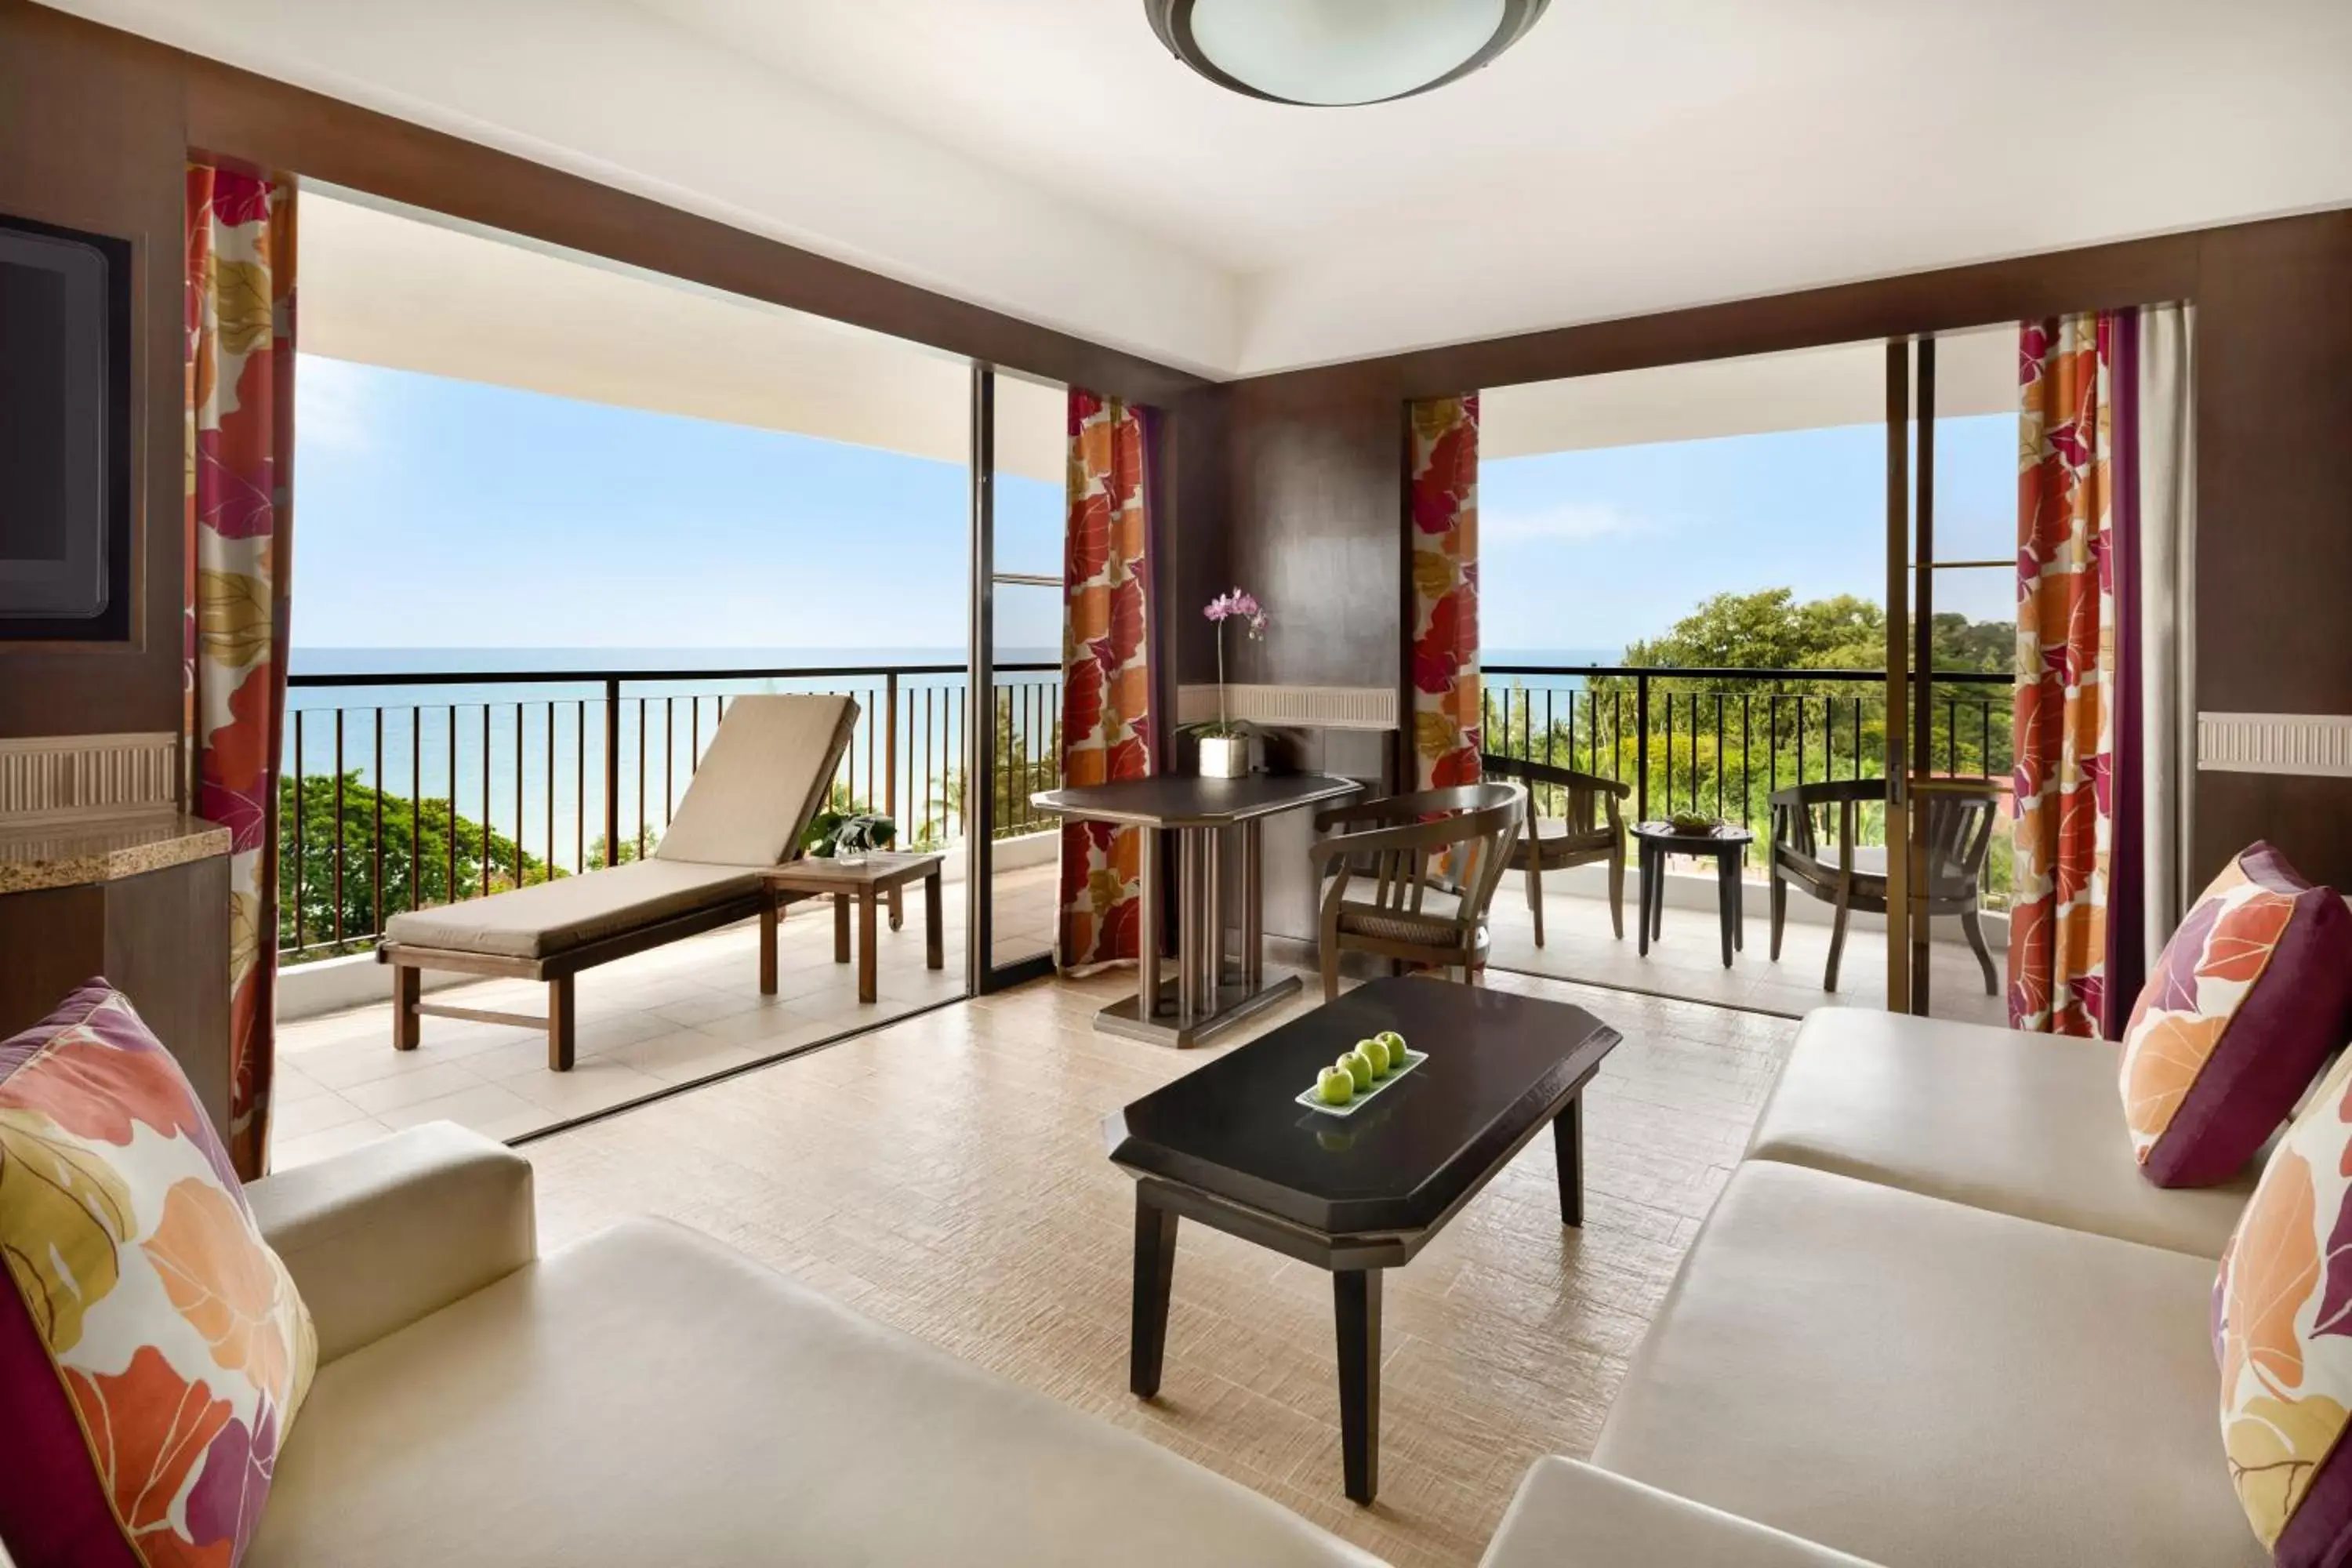
M 1312 849 L 1317 877 L 1331 875 L 1319 933 L 1324 1001 L 1338 997 L 1343 950 L 1381 954 L 1392 971 L 1461 969 L 1477 985 L 1486 905 L 1524 813 L 1526 790 L 1510 783 L 1390 795 L 1317 813 L 1317 827 L 1345 827 Z M 1357 877 L 1371 882 L 1369 898 Z

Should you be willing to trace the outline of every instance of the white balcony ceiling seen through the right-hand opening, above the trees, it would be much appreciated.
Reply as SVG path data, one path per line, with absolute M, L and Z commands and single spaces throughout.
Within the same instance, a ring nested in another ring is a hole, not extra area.
M 1936 341 L 1936 416 L 2018 411 L 2018 331 Z M 1663 364 L 1479 393 L 1479 456 L 1696 442 L 1886 421 L 1886 346 Z

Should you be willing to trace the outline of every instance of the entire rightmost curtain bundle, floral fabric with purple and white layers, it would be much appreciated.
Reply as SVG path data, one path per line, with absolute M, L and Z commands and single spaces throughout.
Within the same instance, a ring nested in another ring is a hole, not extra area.
M 2070 315 L 2018 346 L 2009 1020 L 2122 1039 L 2187 893 L 2192 317 Z

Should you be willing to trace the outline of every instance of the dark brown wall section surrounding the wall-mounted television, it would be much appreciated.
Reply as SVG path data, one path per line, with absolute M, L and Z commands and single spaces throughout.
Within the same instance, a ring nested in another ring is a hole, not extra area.
M 0 212 L 132 242 L 129 644 L 0 649 L 0 736 L 181 726 L 179 56 L 0 2 Z

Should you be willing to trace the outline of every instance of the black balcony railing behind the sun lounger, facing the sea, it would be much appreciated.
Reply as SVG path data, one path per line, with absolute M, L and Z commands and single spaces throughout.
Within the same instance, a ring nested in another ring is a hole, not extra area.
M 962 665 L 289 675 L 278 818 L 282 961 L 374 943 L 405 910 L 649 853 L 727 703 L 847 693 L 833 802 L 903 844 L 964 835 Z M 1061 668 L 997 665 L 995 837 L 1061 783 Z

